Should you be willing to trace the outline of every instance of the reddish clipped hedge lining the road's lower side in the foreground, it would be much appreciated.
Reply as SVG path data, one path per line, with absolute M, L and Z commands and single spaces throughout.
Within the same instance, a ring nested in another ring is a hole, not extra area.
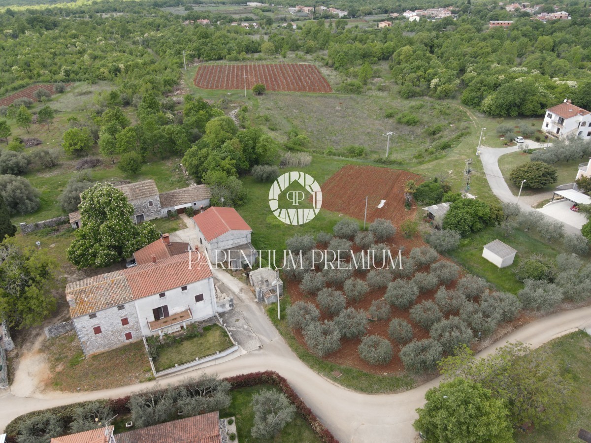
M 303 418 L 310 424 L 314 432 L 320 437 L 324 443 L 338 443 L 338 440 L 330 433 L 328 429 L 320 422 L 316 415 L 311 411 L 310 408 L 304 403 L 304 401 L 297 395 L 292 389 L 290 384 L 284 377 L 274 371 L 265 372 L 254 372 L 249 374 L 239 374 L 233 377 L 226 377 L 224 380 L 230 383 L 232 386 L 230 389 L 238 389 L 240 387 L 249 387 L 262 384 L 269 384 L 278 387 L 283 391 L 285 396 L 292 402 L 297 411 L 303 416 Z M 106 402 L 117 414 L 126 414 L 129 411 L 128 403 L 131 396 L 120 397 L 109 400 L 97 400 L 99 402 Z M 72 403 L 71 405 L 57 406 L 56 408 L 43 409 L 41 411 L 28 412 L 18 416 L 12 420 L 7 426 L 4 432 L 7 434 L 7 443 L 17 443 L 18 427 L 22 421 L 28 420 L 34 416 L 40 415 L 45 412 L 52 413 L 59 418 L 63 419 L 64 422 L 69 424 L 72 422 L 74 411 L 78 406 L 82 406 L 88 402 Z

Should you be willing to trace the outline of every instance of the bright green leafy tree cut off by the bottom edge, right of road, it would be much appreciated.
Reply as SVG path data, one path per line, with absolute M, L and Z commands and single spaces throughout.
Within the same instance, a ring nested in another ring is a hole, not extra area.
M 457 378 L 432 387 L 418 408 L 413 426 L 427 441 L 441 443 L 512 442 L 507 408 L 491 391 L 472 380 Z

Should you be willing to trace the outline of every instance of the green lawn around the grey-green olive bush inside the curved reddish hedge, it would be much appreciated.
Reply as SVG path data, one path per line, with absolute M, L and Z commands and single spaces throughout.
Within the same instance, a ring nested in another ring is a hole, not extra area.
M 238 431 L 238 441 L 241 443 L 260 441 L 251 435 L 255 413 L 252 410 L 252 398 L 262 389 L 279 390 L 271 385 L 257 385 L 251 387 L 242 387 L 230 391 L 232 394 L 232 404 L 229 408 L 220 411 L 220 418 L 236 417 L 236 429 Z M 314 443 L 320 442 L 320 438 L 314 434 L 310 425 L 296 413 L 293 421 L 269 441 L 276 443 Z

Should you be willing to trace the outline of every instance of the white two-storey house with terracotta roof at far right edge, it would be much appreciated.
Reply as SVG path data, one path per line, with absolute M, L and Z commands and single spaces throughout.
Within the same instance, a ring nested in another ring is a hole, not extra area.
M 570 100 L 546 109 L 542 131 L 557 138 L 567 138 L 576 135 L 579 138 L 591 138 L 591 113 L 579 106 L 574 106 Z

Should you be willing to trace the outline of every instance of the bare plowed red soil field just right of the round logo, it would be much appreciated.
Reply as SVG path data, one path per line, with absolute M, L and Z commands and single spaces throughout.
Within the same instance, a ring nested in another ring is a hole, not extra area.
M 420 175 L 408 171 L 347 165 L 322 184 L 322 208 L 363 220 L 368 196 L 368 223 L 388 219 L 400 226 L 415 213 L 404 209 L 404 183 L 408 180 L 422 181 Z M 384 207 L 376 207 L 381 200 L 386 200 Z

